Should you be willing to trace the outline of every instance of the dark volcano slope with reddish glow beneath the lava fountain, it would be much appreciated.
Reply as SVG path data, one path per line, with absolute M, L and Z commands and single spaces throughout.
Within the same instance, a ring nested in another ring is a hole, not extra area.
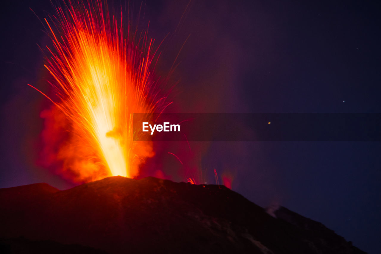
M 284 207 L 218 185 L 108 177 L 0 189 L 2 253 L 365 253 Z

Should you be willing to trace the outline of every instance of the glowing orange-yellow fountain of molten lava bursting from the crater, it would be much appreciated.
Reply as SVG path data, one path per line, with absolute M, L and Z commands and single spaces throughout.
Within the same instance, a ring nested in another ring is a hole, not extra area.
M 70 138 L 57 153 L 62 174 L 69 170 L 75 182 L 138 175 L 139 164 L 154 153 L 149 142 L 133 142 L 133 113 L 165 106 L 152 73 L 153 40 L 131 32 L 130 21 L 125 36 L 122 18 L 110 16 L 99 1 L 69 1 L 45 21 L 54 46 L 47 47 L 45 67 L 60 99 L 54 104 L 70 125 Z

